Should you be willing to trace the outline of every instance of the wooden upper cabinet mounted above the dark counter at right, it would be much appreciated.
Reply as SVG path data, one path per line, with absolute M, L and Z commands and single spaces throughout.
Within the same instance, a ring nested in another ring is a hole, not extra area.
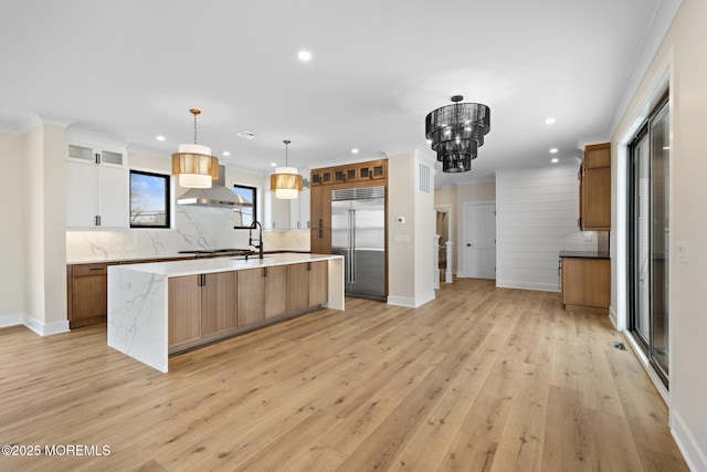
M 611 230 L 611 144 L 587 146 L 579 174 L 579 227 Z

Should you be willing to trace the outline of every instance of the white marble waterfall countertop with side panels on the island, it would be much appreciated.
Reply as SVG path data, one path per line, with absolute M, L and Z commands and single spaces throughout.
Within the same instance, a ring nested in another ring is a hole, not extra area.
M 169 363 L 169 279 L 238 272 L 278 265 L 327 262 L 328 300 L 344 310 L 344 258 L 330 254 L 277 253 L 197 259 L 108 268 L 108 346 L 162 373 Z

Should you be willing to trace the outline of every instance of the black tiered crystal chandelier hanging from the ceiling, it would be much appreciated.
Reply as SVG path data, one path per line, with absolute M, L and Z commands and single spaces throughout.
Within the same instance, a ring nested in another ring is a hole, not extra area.
M 454 95 L 452 105 L 437 108 L 425 118 L 425 137 L 445 172 L 472 170 L 472 160 L 490 130 L 490 108 L 481 103 L 461 103 L 463 99 L 462 95 Z

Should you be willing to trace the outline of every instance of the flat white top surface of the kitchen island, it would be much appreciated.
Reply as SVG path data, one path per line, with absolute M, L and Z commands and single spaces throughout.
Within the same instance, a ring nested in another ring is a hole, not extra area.
M 242 271 L 245 269 L 267 268 L 273 265 L 296 264 L 302 262 L 328 261 L 331 259 L 344 259 L 341 255 L 333 254 L 308 254 L 283 252 L 276 254 L 265 254 L 264 259 L 257 255 L 250 255 L 247 260 L 243 256 L 236 258 L 208 258 L 190 259 L 186 261 L 149 262 L 145 264 L 130 264 L 109 266 L 108 272 L 120 269 L 137 272 L 178 277 L 183 275 L 209 274 L 214 272 Z

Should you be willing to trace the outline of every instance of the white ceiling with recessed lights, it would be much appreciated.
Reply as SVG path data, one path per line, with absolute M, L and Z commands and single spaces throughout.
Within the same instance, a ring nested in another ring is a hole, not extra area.
M 0 126 L 35 113 L 168 157 L 197 107 L 199 144 L 267 175 L 283 139 L 300 170 L 429 151 L 425 115 L 462 94 L 490 107 L 492 130 L 472 172 L 435 187 L 577 162 L 579 140 L 610 133 L 659 3 L 4 1 Z

